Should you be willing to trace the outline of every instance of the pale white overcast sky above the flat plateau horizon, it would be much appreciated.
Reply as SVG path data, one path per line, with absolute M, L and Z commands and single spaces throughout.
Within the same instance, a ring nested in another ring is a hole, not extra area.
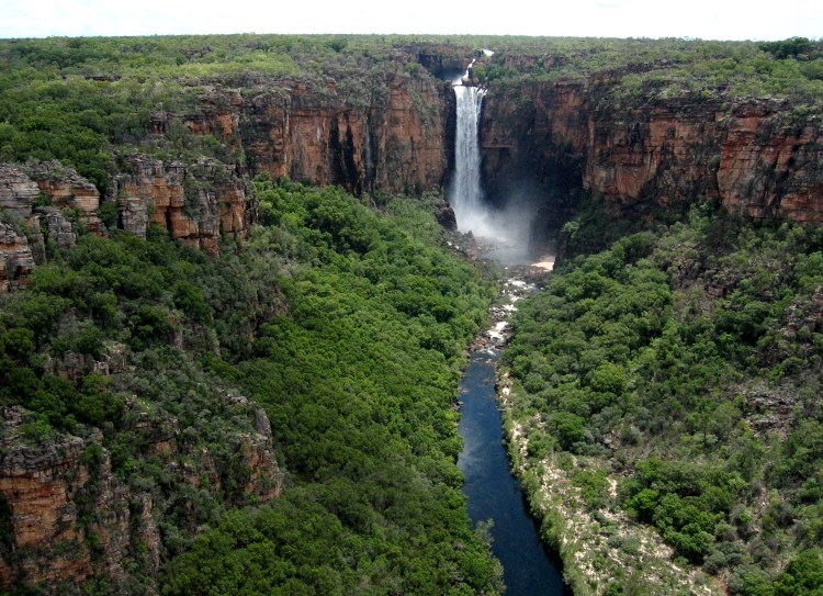
M 184 33 L 823 37 L 823 0 L 0 0 L 0 38 Z

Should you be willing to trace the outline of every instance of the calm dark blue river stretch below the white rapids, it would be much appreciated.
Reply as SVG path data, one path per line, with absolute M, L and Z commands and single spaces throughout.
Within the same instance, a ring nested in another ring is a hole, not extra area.
M 543 548 L 519 482 L 509 470 L 495 398 L 497 358 L 497 350 L 475 351 L 461 383 L 463 451 L 458 465 L 465 475 L 469 515 L 475 524 L 494 520 L 492 551 L 503 563 L 507 596 L 571 596 L 560 563 Z

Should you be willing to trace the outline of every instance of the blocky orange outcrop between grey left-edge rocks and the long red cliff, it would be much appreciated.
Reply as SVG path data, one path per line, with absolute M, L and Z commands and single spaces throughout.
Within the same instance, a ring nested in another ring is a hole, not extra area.
M 205 157 L 187 165 L 139 154 L 123 160 L 132 173 L 111 180 L 108 200 L 117 202 L 124 229 L 145 238 L 151 221 L 212 254 L 218 251 L 222 234 L 246 236 L 257 203 L 234 166 Z

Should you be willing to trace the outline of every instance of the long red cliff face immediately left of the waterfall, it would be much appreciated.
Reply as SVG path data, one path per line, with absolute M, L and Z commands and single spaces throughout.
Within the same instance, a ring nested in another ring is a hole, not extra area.
M 443 182 L 452 99 L 435 79 L 394 75 L 357 97 L 345 81 L 236 82 L 234 89 L 215 82 L 195 113 L 155 114 L 151 130 L 164 134 L 181 117 L 195 134 L 241 149 L 252 175 L 341 184 L 356 194 L 419 192 Z

